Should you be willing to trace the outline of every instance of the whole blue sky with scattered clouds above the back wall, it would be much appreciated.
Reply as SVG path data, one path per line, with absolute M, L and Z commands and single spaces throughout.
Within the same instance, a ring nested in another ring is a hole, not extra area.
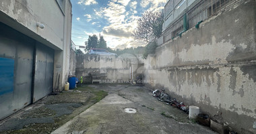
M 113 49 L 136 48 L 145 42 L 132 36 L 137 20 L 145 11 L 161 11 L 168 0 L 71 0 L 72 40 L 85 46 L 88 37 L 96 34 Z

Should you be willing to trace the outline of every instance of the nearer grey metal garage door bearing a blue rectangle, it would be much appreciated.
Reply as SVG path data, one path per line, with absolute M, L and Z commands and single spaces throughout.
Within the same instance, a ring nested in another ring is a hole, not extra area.
M 34 40 L 0 23 L 0 119 L 31 103 Z

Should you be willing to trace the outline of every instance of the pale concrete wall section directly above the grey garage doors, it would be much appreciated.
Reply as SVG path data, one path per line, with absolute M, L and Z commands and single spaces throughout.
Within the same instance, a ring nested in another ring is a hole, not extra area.
M 57 1 L 2 0 L 0 10 L 18 21 L 22 26 L 30 29 L 37 36 L 47 39 L 50 42 L 50 47 L 63 49 L 63 19 L 65 16 L 59 9 Z M 1 21 L 7 23 L 8 20 L 2 19 Z M 43 23 L 44 29 L 36 27 L 36 22 Z M 7 23 L 7 25 L 17 27 L 15 23 Z M 18 29 L 18 31 L 22 31 L 24 34 L 26 32 L 24 29 Z M 30 34 L 31 36 L 33 35 Z

